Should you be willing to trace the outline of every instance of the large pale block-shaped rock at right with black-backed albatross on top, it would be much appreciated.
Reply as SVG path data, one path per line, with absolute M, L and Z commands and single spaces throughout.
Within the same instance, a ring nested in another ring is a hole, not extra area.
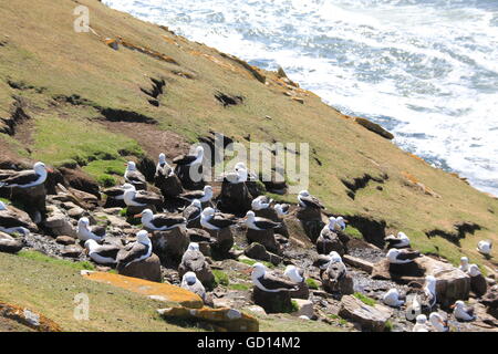
M 373 266 L 373 279 L 387 279 L 400 283 L 418 281 L 423 283 L 426 275 L 436 278 L 437 303 L 447 308 L 457 300 L 468 299 L 470 277 L 453 267 L 427 256 L 417 258 L 408 264 L 390 264 L 386 259 Z

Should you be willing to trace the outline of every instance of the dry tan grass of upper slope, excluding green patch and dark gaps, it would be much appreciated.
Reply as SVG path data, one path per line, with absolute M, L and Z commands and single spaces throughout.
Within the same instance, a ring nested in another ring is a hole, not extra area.
M 32 158 L 45 158 L 48 163 L 73 158 L 56 137 L 51 137 L 60 146 L 56 159 L 52 158 L 46 145 L 40 143 L 51 119 L 70 117 L 81 119 L 89 129 L 103 128 L 94 119 L 98 113 L 92 106 L 50 104 L 51 97 L 58 94 L 79 94 L 103 107 L 147 115 L 159 122 L 157 128 L 174 131 L 189 142 L 210 128 L 240 142 L 248 133 L 252 142 L 271 142 L 273 138 L 309 142 L 317 152 L 313 156 L 322 163 L 319 166 L 314 159 L 310 160 L 309 189 L 329 210 L 385 220 L 387 232 L 402 229 L 412 237 L 415 248 L 439 252 L 453 262 L 460 253 L 469 256 L 471 261 L 484 262 L 475 251 L 475 244 L 485 238 L 497 240 L 496 199 L 402 152 L 324 105 L 312 93 L 300 91 L 298 94 L 305 103 L 293 102 L 283 94 L 288 90 L 279 85 L 272 73 L 267 73 L 269 84 L 263 85 L 214 49 L 188 42 L 97 1 L 80 3 L 90 8 L 91 27 L 102 37 L 121 35 L 174 58 L 179 65 L 123 46 L 113 51 L 92 33 L 75 33 L 72 30 L 75 2 L 71 0 L 40 0 L 35 6 L 27 0 L 2 2 L 0 27 L 2 35 L 9 38 L 8 44 L 0 46 L 0 110 L 9 110 L 12 94 L 27 96 L 32 103 L 30 112 L 37 117 L 31 136 Z M 23 11 L 29 4 L 31 10 Z M 19 13 L 23 13 L 23 21 L 18 21 Z M 195 79 L 178 76 L 175 71 Z M 151 86 L 148 76 L 164 77 L 167 82 L 159 107 L 149 105 L 147 96 L 139 90 Z M 42 93 L 12 90 L 4 84 L 8 77 L 45 90 Z M 214 98 L 216 90 L 243 95 L 245 104 L 224 108 Z M 266 119 L 266 115 L 272 119 Z M 101 143 L 92 137 L 85 144 Z M 15 152 L 19 146 L 12 144 L 11 149 Z M 85 148 L 77 149 L 86 154 Z M 415 176 L 440 198 L 407 186 L 402 173 Z M 375 188 L 377 183 L 371 181 L 366 188 L 356 191 L 354 200 L 351 199 L 341 179 L 352 180 L 365 174 L 374 177 L 386 174 L 388 179 L 382 190 Z M 463 221 L 478 223 L 481 230 L 466 235 L 461 249 L 440 237 L 428 239 L 425 236 L 434 229 L 454 232 L 454 225 Z

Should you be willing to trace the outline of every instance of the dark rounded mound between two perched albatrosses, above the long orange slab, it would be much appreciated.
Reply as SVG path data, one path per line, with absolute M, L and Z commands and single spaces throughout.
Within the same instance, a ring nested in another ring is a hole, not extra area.
M 154 231 L 151 237 L 154 253 L 158 254 L 164 264 L 173 264 L 175 268 L 181 261 L 181 257 L 188 248 L 190 240 L 180 228 L 168 231 Z

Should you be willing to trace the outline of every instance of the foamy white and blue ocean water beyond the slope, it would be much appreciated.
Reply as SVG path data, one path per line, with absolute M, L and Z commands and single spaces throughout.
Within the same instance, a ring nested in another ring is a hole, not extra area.
M 103 0 L 289 77 L 498 196 L 497 0 Z

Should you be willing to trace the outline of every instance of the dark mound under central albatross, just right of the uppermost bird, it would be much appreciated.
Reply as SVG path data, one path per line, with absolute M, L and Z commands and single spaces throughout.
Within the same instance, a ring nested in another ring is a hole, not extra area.
M 252 196 L 245 183 L 230 184 L 222 181 L 218 208 L 224 212 L 245 215 L 251 209 Z

